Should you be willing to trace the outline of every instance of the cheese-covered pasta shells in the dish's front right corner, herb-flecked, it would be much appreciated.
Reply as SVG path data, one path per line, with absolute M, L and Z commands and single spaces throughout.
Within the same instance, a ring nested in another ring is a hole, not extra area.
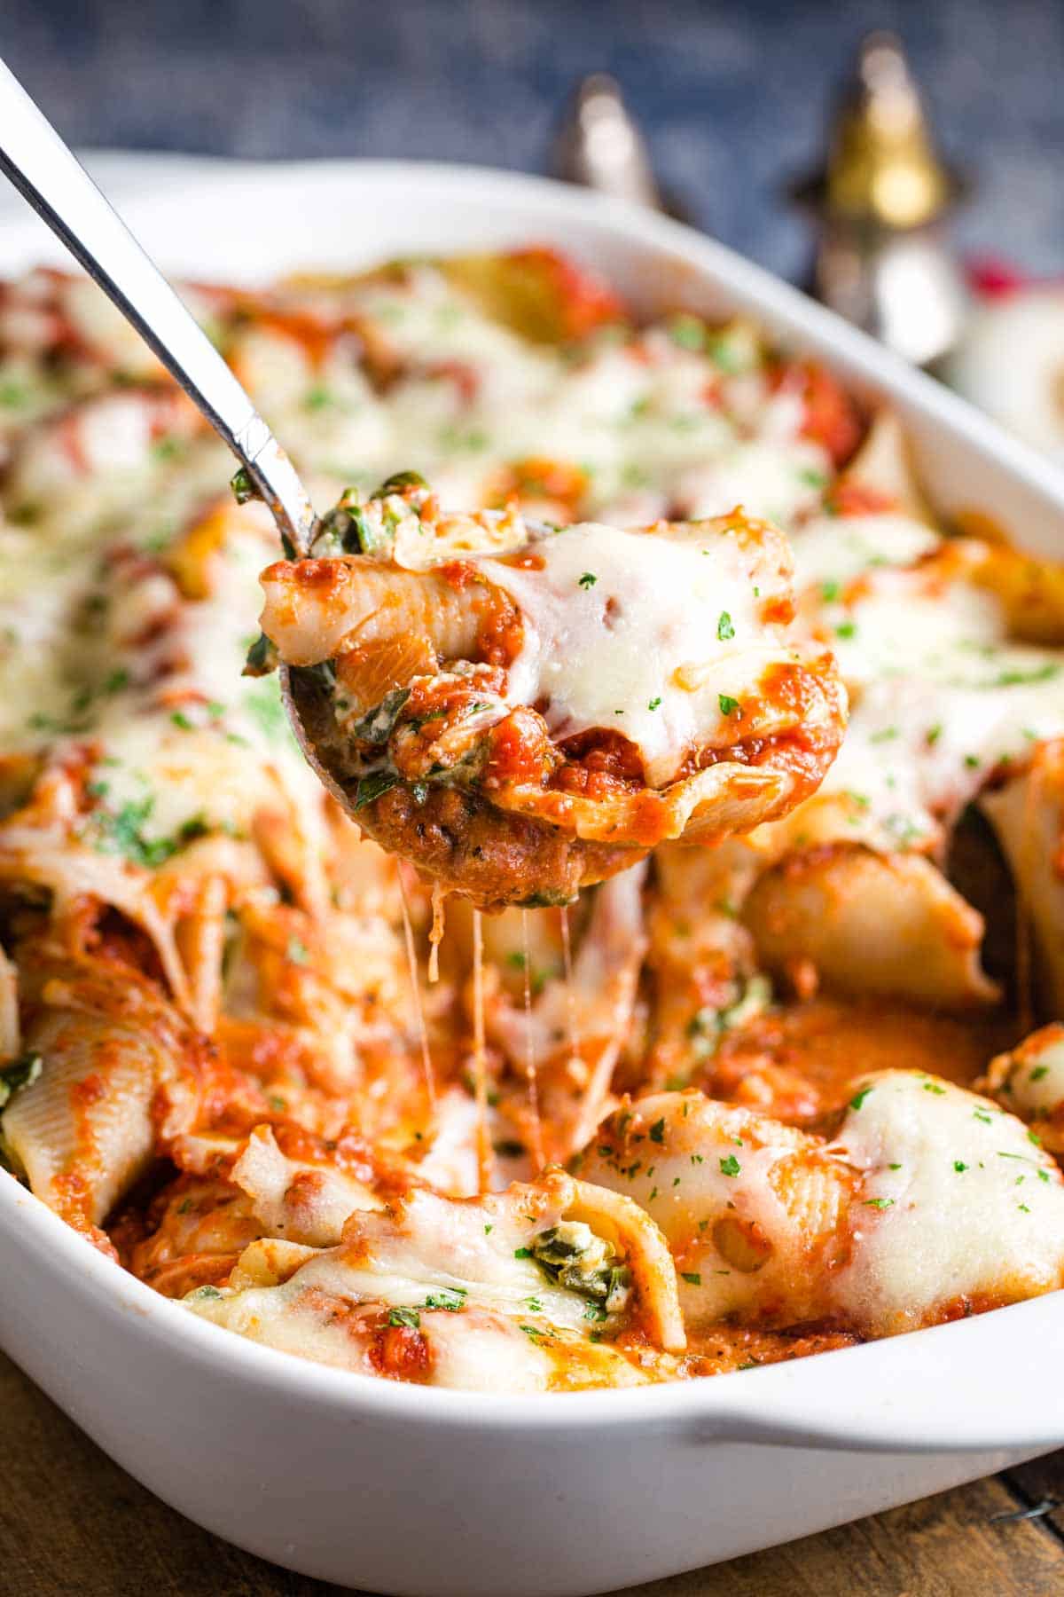
M 919 1072 L 857 1083 L 831 1143 L 697 1092 L 636 1100 L 581 1174 L 635 1198 L 688 1322 L 895 1335 L 1064 1284 L 1064 1182 L 1015 1116 Z

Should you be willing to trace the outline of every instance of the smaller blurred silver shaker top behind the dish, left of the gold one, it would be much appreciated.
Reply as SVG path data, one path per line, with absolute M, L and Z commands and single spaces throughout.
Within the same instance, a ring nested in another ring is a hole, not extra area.
M 662 195 L 643 133 L 621 85 L 593 72 L 573 89 L 550 149 L 550 172 L 569 184 L 680 214 Z

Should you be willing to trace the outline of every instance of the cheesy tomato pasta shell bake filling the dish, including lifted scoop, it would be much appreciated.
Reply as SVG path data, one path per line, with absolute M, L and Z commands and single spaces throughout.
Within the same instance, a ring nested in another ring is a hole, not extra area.
M 1059 1289 L 1064 572 L 542 249 L 185 292 L 333 509 L 282 551 L 88 281 L 0 287 L 0 1179 L 435 1386 Z

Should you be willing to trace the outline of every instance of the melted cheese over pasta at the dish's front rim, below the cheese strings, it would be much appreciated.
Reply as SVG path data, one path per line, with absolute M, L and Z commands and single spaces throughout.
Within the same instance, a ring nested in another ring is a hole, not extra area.
M 482 1203 L 415 1190 L 386 1212 L 353 1214 L 337 1247 L 287 1247 L 279 1255 L 287 1279 L 271 1276 L 276 1246 L 254 1242 L 231 1287 L 201 1287 L 183 1302 L 239 1335 L 367 1373 L 378 1373 L 383 1321 L 416 1332 L 415 1378 L 431 1385 L 542 1389 L 574 1361 L 587 1381 L 638 1385 L 643 1377 L 619 1351 L 592 1341 L 603 1313 L 589 1313 L 585 1297 L 555 1286 L 533 1262 L 528 1242 L 557 1225 L 558 1203 L 573 1191 L 573 1183 L 554 1187 L 512 1188 Z

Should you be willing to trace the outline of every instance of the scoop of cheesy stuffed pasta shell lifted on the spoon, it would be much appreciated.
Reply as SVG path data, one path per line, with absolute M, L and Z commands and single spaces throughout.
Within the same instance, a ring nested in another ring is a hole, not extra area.
M 742 511 L 619 530 L 348 493 L 262 577 L 297 733 L 386 848 L 487 909 L 563 904 L 665 838 L 788 813 L 845 698 Z M 258 650 L 262 661 L 266 647 Z

